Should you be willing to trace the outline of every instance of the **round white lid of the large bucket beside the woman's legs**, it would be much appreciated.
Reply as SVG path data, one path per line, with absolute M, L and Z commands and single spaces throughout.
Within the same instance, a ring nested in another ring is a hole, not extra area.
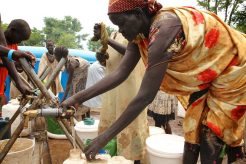
M 184 138 L 170 134 L 156 134 L 146 139 L 147 149 L 155 154 L 180 156 L 183 155 Z

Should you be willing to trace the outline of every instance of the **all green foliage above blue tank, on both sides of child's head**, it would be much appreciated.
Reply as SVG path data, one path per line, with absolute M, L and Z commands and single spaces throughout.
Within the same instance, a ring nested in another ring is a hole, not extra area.
M 88 34 L 81 34 L 81 23 L 78 19 L 65 16 L 59 20 L 52 17 L 44 18 L 45 27 L 42 30 L 32 29 L 30 39 L 20 45 L 44 46 L 45 40 L 53 40 L 56 45 L 63 45 L 67 48 L 83 49 L 81 42 L 86 39 Z M 2 29 L 5 30 L 8 24 L 3 23 Z

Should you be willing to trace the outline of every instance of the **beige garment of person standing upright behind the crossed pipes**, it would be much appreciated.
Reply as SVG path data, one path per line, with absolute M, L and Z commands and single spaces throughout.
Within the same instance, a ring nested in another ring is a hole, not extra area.
M 38 76 L 40 76 L 42 74 L 42 72 L 44 71 L 45 67 L 48 66 L 52 69 L 52 71 L 46 76 L 46 78 L 44 79 L 44 82 L 47 81 L 53 70 L 55 70 L 55 68 L 57 67 L 58 62 L 56 60 L 54 60 L 53 63 L 51 63 L 46 55 L 46 53 L 44 53 L 40 59 L 40 63 L 39 63 L 39 69 L 38 69 Z M 63 88 L 60 82 L 60 78 L 59 76 L 57 76 L 54 80 L 54 82 L 51 84 L 51 91 L 56 95 L 59 92 L 63 92 Z

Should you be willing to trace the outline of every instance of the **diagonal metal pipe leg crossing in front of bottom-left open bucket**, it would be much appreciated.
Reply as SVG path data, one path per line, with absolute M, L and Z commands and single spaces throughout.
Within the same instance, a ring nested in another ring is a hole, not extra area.
M 13 133 L 11 139 L 9 139 L 7 144 L 4 146 L 3 150 L 0 153 L 0 163 L 3 162 L 4 157 L 8 154 L 9 150 L 15 143 L 16 139 L 19 137 L 21 131 L 23 130 L 24 123 L 25 123 L 25 118 L 21 120 L 19 126 L 16 128 L 15 132 Z

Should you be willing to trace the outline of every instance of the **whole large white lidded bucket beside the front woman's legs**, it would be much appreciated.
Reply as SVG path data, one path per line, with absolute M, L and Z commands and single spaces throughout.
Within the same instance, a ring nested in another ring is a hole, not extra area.
M 184 138 L 170 134 L 156 134 L 146 139 L 150 164 L 182 164 Z

